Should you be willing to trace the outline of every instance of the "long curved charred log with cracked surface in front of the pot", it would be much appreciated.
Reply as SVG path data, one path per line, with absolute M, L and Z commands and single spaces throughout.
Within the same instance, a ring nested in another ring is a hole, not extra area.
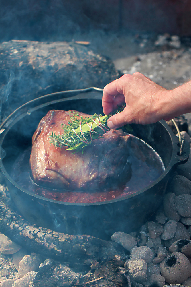
M 92 262 L 106 262 L 115 255 L 125 258 L 125 249 L 113 241 L 90 235 L 59 233 L 35 224 L 30 225 L 13 207 L 7 204 L 5 189 L 0 198 L 0 232 L 31 252 L 50 257 L 66 265 L 90 266 Z M 11 202 L 11 201 L 10 201 Z

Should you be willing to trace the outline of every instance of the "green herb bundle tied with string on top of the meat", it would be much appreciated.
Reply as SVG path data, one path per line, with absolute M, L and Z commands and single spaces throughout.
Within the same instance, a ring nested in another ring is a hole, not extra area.
M 123 108 L 118 108 L 114 114 L 120 113 L 122 110 Z M 67 148 L 66 150 L 76 152 L 109 131 L 107 120 L 111 115 L 94 114 L 83 118 L 78 113 L 71 115 L 71 112 L 69 112 L 69 117 L 68 124 L 62 124 L 64 131 L 62 135 L 55 135 L 52 132 L 52 135 L 49 136 L 50 144 L 53 144 L 54 147 L 62 148 L 64 146 Z M 132 131 L 129 125 L 125 125 L 124 128 Z

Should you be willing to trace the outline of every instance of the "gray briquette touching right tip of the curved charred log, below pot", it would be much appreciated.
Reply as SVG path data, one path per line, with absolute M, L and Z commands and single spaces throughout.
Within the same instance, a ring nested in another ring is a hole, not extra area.
M 128 251 L 137 245 L 137 241 L 133 236 L 121 231 L 115 232 L 111 236 L 111 240 L 119 243 Z

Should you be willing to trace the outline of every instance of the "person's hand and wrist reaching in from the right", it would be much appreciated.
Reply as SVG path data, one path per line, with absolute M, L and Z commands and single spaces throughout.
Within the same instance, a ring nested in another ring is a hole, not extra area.
M 150 124 L 161 119 L 170 120 L 191 111 L 191 81 L 167 90 L 141 73 L 125 74 L 103 89 L 103 112 L 109 115 L 124 103 L 123 112 L 108 119 L 109 128 L 127 123 Z

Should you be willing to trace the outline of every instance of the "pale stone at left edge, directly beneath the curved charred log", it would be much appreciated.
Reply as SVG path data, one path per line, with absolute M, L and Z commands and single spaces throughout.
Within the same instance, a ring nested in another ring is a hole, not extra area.
M 3 254 L 13 254 L 19 251 L 22 247 L 14 243 L 9 237 L 0 234 L 0 252 Z

